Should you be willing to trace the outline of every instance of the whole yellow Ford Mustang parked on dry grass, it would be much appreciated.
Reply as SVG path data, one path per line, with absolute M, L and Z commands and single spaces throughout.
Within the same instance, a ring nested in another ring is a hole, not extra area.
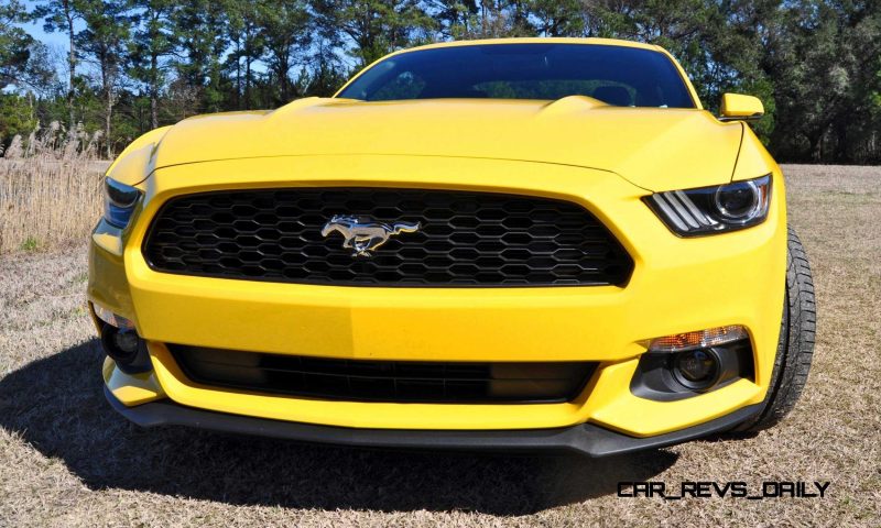
M 395 53 L 187 119 L 106 179 L 88 300 L 142 426 L 607 455 L 779 421 L 807 377 L 784 180 L 650 45 Z

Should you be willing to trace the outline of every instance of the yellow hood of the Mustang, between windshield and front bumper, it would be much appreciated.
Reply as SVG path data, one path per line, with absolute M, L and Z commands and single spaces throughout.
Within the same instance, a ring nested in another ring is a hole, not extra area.
M 153 167 L 265 156 L 409 155 L 519 160 L 598 168 L 649 190 L 731 179 L 743 130 L 704 110 L 445 99 L 308 98 L 274 111 L 195 117 L 172 127 Z M 536 166 L 541 178 L 541 166 Z

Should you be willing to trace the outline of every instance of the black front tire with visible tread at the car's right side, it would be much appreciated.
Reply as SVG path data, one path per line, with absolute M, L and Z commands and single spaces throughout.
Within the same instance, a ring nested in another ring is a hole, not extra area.
M 762 411 L 738 426 L 740 432 L 758 432 L 780 422 L 798 402 L 814 356 L 817 309 L 814 280 L 802 241 L 788 228 L 786 299 L 777 353 Z

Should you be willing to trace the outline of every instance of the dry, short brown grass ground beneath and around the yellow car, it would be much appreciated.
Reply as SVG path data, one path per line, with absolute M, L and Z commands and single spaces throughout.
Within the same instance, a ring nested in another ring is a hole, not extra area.
M 817 288 L 802 402 L 752 438 L 599 461 L 138 429 L 101 394 L 84 246 L 0 256 L 0 526 L 881 526 L 881 167 L 784 172 Z M 824 499 L 616 496 L 643 480 L 830 486 Z

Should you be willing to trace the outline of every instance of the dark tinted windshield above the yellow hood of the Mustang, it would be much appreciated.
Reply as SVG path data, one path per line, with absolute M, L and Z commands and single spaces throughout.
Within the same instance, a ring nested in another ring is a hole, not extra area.
M 542 99 L 588 96 L 619 107 L 695 108 L 664 54 L 599 44 L 480 44 L 402 53 L 337 97 Z

